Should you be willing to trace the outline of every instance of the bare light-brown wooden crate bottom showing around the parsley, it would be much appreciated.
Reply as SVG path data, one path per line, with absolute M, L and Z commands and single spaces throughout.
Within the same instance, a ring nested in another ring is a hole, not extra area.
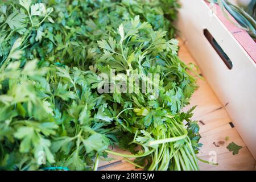
M 195 60 L 188 52 L 185 47 L 185 42 L 180 40 L 179 57 L 185 63 L 194 63 Z M 203 143 L 203 147 L 200 150 L 198 156 L 204 160 L 208 160 L 212 151 L 216 152 L 218 166 L 205 164 L 199 162 L 201 170 L 254 170 L 255 160 L 247 149 L 245 143 L 237 133 L 236 128 L 232 128 L 228 113 L 225 110 L 218 98 L 213 93 L 207 81 L 198 80 L 197 84 L 199 89 L 193 94 L 191 104 L 184 108 L 189 109 L 193 105 L 197 105 L 193 119 L 196 119 L 200 125 L 200 142 Z M 226 141 L 225 138 L 229 137 Z M 238 155 L 232 155 L 226 146 L 230 142 L 235 142 L 243 148 L 240 150 Z M 114 148 L 114 151 L 122 151 L 118 148 Z M 110 158 L 115 158 L 112 162 L 101 162 L 100 170 L 135 170 L 134 166 L 126 160 L 118 157 L 109 155 Z

